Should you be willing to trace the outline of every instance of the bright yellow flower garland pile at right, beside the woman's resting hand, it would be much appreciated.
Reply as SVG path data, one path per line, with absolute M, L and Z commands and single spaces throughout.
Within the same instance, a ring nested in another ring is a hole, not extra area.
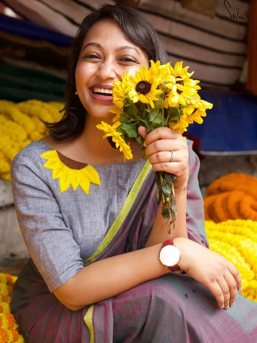
M 232 262 L 242 277 L 242 294 L 257 302 L 257 222 L 205 221 L 210 249 Z

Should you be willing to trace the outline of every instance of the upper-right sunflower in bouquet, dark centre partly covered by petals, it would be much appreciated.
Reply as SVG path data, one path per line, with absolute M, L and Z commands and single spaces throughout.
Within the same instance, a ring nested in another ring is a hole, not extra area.
M 187 69 L 189 67 L 182 68 L 182 64 L 183 61 L 177 62 L 174 69 L 169 66 L 169 75 L 166 76 L 166 81 L 168 82 L 166 87 L 171 91 L 168 102 L 166 101 L 165 103 L 166 106 L 167 103 L 171 107 L 179 106 L 179 104 L 186 106 L 186 100 L 193 97 L 196 91 L 201 89 L 197 85 L 199 81 L 191 79 L 194 72 L 188 73 Z

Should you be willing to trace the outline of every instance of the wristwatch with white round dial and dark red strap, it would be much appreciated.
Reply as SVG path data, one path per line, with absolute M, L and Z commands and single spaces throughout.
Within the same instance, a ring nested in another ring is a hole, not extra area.
M 167 269 L 179 274 L 182 270 L 179 268 L 181 258 L 180 249 L 174 245 L 173 239 L 168 239 L 162 243 L 159 260 Z

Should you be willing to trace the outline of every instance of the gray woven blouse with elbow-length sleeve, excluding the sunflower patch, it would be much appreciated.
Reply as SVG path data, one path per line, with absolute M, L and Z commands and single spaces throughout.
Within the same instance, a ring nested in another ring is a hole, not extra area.
M 61 192 L 59 178 L 44 168 L 41 155 L 52 149 L 35 141 L 12 162 L 13 197 L 21 232 L 49 291 L 63 285 L 98 248 L 145 161 L 93 166 L 101 186 L 90 183 Z

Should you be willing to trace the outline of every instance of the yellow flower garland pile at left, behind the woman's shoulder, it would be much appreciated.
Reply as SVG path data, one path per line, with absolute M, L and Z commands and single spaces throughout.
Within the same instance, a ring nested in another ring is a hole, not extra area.
M 63 103 L 44 103 L 27 100 L 13 103 L 0 100 L 0 177 L 10 180 L 11 162 L 14 156 L 32 141 L 44 137 L 47 132 L 40 119 L 55 122 L 61 119 L 59 111 Z

